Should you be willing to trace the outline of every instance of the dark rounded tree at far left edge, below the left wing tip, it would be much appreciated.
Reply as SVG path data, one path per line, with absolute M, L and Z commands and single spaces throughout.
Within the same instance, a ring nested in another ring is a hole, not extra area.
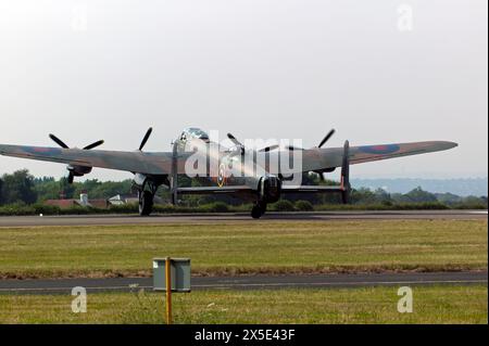
M 37 200 L 34 189 L 34 177 L 27 169 L 14 171 L 2 177 L 2 204 L 26 203 L 32 204 Z

